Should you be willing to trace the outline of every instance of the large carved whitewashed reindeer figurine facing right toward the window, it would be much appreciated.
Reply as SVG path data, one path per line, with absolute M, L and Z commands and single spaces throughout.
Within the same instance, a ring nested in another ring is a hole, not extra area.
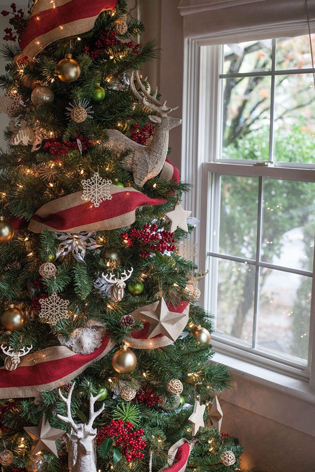
M 150 95 L 142 84 L 137 71 L 135 71 L 135 78 L 143 96 L 135 88 L 134 72 L 130 78 L 130 89 L 133 95 L 144 106 L 156 112 L 156 115 L 149 115 L 149 120 L 155 125 L 153 138 L 147 146 L 143 146 L 127 138 L 120 131 L 107 129 L 109 137 L 107 145 L 117 152 L 121 152 L 123 149 L 131 150 L 122 166 L 133 173 L 134 183 L 142 187 L 148 179 L 155 177 L 162 170 L 168 151 L 168 132 L 179 126 L 181 119 L 168 116 L 168 113 L 178 107 L 170 108 L 166 106 L 166 101 L 160 103 L 156 99 L 157 88 L 153 96 Z

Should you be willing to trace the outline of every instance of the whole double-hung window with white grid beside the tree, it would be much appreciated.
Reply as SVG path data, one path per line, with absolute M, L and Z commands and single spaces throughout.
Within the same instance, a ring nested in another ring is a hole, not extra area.
M 197 186 L 202 182 L 195 212 L 216 350 L 309 378 L 315 319 L 309 36 L 201 44 L 199 54 L 198 162 L 191 173 Z

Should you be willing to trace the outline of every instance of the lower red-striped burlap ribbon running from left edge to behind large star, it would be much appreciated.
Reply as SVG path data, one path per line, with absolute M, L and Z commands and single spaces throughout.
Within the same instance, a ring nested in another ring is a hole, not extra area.
M 168 305 L 168 308 L 177 313 L 183 314 L 185 324 L 188 318 L 189 305 L 187 302 L 179 304 L 177 307 Z M 145 310 L 148 306 L 139 308 Z M 181 333 L 181 320 L 178 322 L 178 336 Z M 136 344 L 138 349 L 154 349 L 152 345 L 148 347 L 138 346 L 139 340 L 152 341 L 156 343 L 156 348 L 170 344 L 166 338 L 166 344 L 163 344 L 165 336 L 155 336 L 151 340 L 146 339 L 146 332 L 141 330 L 138 333 L 132 333 L 132 338 L 128 342 L 132 347 Z M 134 336 L 134 338 L 133 338 Z M 43 390 L 53 390 L 61 385 L 70 382 L 81 374 L 90 364 L 106 356 L 113 349 L 115 344 L 110 341 L 106 334 L 102 340 L 101 346 L 91 354 L 75 354 L 65 346 L 54 346 L 51 348 L 28 354 L 21 359 L 20 364 L 15 371 L 8 372 L 4 367 L 0 368 L 0 399 L 2 398 L 27 398 L 39 397 Z

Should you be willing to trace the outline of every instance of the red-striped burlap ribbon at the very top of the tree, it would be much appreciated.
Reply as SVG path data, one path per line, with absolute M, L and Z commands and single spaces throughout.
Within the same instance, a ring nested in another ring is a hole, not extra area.
M 92 29 L 99 13 L 116 5 L 117 0 L 38 0 L 19 46 L 33 59 L 51 42 Z

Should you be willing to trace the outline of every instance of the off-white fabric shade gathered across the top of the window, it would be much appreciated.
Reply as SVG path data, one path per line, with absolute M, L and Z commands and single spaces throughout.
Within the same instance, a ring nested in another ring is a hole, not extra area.
M 308 33 L 305 0 L 180 0 L 184 36 L 208 44 L 299 36 Z M 311 31 L 315 0 L 308 0 Z

